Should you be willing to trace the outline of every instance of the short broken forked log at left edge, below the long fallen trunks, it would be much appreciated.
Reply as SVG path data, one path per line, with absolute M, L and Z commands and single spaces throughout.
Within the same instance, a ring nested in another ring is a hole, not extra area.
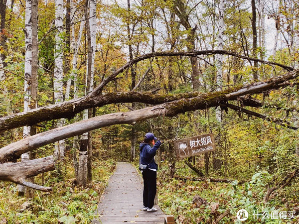
M 40 191 L 51 191 L 52 188 L 39 186 L 25 181 L 25 179 L 54 169 L 53 156 L 18 163 L 3 163 L 0 164 L 0 180 L 10 181 Z

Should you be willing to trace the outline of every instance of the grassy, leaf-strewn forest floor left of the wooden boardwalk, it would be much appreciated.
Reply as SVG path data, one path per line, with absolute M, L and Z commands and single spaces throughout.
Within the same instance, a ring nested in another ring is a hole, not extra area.
M 0 224 L 90 223 L 99 199 L 113 173 L 113 160 L 93 161 L 93 180 L 87 188 L 74 185 L 74 168 L 69 161 L 62 175 L 55 171 L 44 174 L 44 186 L 52 191 L 35 191 L 33 199 L 17 196 L 17 186 L 0 182 Z M 41 184 L 42 176 L 35 182 Z

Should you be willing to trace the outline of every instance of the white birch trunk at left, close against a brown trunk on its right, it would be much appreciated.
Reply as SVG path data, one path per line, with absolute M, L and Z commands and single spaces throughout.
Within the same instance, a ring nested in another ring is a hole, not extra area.
M 30 110 L 30 79 L 32 65 L 32 0 L 25 3 L 25 64 L 24 64 L 24 112 Z M 23 138 L 30 136 L 30 126 L 23 127 Z M 29 160 L 29 152 L 21 155 L 21 161 Z M 19 195 L 24 195 L 25 187 L 18 185 Z

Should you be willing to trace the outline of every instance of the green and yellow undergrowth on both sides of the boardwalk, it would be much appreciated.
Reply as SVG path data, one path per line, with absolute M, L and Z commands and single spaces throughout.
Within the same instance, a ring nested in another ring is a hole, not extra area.
M 134 165 L 138 169 L 138 160 Z M 65 165 L 66 164 L 66 165 Z M 74 185 L 74 169 L 70 161 L 62 166 L 62 175 L 57 172 L 44 174 L 44 186 L 53 188 L 50 193 L 35 191 L 33 199 L 18 197 L 17 186 L 8 182 L 0 182 L 0 224 L 81 224 L 90 223 L 95 218 L 95 211 L 101 194 L 107 186 L 109 177 L 114 172 L 115 161 L 103 159 L 93 161 L 93 181 L 86 189 Z M 215 183 L 206 181 L 178 180 L 169 177 L 169 163 L 161 163 L 157 173 L 157 191 L 159 207 L 165 215 L 173 215 L 180 224 L 211 224 L 227 210 L 220 223 L 241 223 L 236 218 L 237 211 L 246 209 L 249 218 L 246 224 L 256 223 L 299 223 L 298 185 L 278 191 L 268 203 L 263 203 L 266 192 L 264 185 L 267 175 L 257 171 L 244 184 L 235 179 L 241 179 L 241 174 L 227 177 L 230 183 Z M 203 169 L 202 167 L 198 167 Z M 176 162 L 175 175 L 181 177 L 197 177 L 182 160 Z M 63 176 L 63 178 L 62 178 Z M 224 178 L 216 172 L 209 174 L 212 178 Z M 42 176 L 35 178 L 37 184 L 42 184 Z M 200 196 L 209 205 L 196 201 Z M 286 200 L 288 198 L 288 200 Z M 294 217 L 291 217 L 291 212 Z M 253 214 L 259 212 L 270 214 L 285 213 L 286 219 L 259 219 Z

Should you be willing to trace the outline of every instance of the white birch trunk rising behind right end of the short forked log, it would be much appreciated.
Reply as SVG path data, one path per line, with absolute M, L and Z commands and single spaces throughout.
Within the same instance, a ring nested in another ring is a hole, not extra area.
M 63 101 L 63 88 L 62 88 L 62 78 L 63 78 L 63 0 L 55 0 L 55 26 L 57 27 L 57 32 L 55 34 L 55 66 L 54 66 L 54 102 L 55 104 L 61 103 Z M 59 119 L 57 121 L 57 127 L 62 127 L 64 119 Z M 55 143 L 54 156 L 56 158 L 63 159 L 64 157 L 64 139 Z

